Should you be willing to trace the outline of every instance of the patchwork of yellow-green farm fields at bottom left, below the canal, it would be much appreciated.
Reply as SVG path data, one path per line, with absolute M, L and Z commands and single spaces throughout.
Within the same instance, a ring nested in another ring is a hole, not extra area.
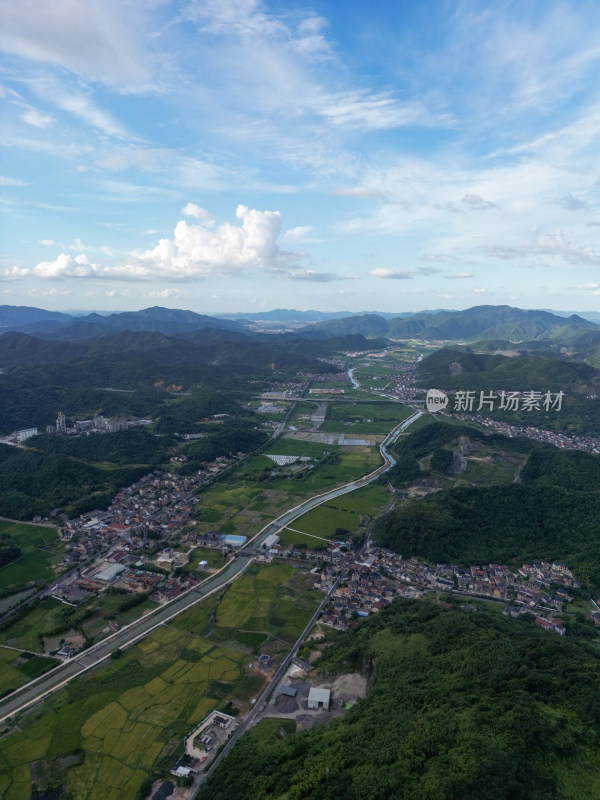
M 249 664 L 259 648 L 287 652 L 319 602 L 312 580 L 286 564 L 251 565 L 219 597 L 26 712 L 0 740 L 0 798 L 65 787 L 73 800 L 134 800 L 212 709 L 249 708 L 265 680 Z

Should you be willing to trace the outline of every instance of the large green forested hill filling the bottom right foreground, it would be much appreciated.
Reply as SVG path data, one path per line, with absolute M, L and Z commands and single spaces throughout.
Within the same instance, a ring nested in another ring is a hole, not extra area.
M 596 800 L 600 654 L 532 622 L 396 600 L 320 670 L 374 685 L 343 720 L 247 733 L 201 800 Z

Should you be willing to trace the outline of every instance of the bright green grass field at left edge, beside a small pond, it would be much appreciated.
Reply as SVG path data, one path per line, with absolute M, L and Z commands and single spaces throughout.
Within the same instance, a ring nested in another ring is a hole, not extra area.
M 21 556 L 0 569 L 0 590 L 16 592 L 28 585 L 44 586 L 52 580 L 52 565 L 60 561 L 64 548 L 55 528 L 0 522 L 0 533 L 9 534 L 21 548 Z

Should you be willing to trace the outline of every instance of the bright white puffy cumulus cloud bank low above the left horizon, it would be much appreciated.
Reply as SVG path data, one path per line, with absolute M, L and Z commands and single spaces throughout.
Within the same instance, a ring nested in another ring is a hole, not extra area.
M 191 205 L 195 214 L 204 211 Z M 188 206 L 186 209 L 190 211 Z M 333 273 L 295 271 L 302 256 L 280 248 L 279 211 L 257 211 L 239 205 L 236 217 L 240 220 L 239 225 L 224 222 L 216 228 L 180 220 L 172 239 L 160 239 L 154 248 L 134 253 L 126 263 L 115 266 L 94 264 L 83 253 L 78 256 L 61 253 L 55 261 L 43 261 L 32 269 L 14 267 L 4 277 L 193 280 L 215 275 L 230 276 L 254 268 L 288 274 L 296 280 L 332 279 L 322 276 Z M 312 277 L 303 278 L 302 275 Z

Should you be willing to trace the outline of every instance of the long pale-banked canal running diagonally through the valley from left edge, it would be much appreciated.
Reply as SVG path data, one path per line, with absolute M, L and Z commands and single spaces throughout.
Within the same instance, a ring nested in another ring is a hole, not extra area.
M 45 675 L 30 681 L 25 684 L 25 686 L 21 686 L 11 694 L 0 699 L 0 722 L 27 706 L 32 705 L 51 692 L 61 688 L 82 672 L 96 667 L 99 663 L 109 658 L 113 650 L 123 649 L 134 644 L 160 625 L 168 622 L 177 614 L 180 614 L 185 609 L 198 603 L 204 597 L 217 591 L 224 584 L 234 580 L 246 568 L 249 559 L 256 554 L 264 540 L 271 533 L 277 533 L 282 528 L 289 525 L 294 519 L 302 516 L 302 514 L 305 514 L 312 508 L 336 497 L 340 497 L 340 495 L 367 486 L 369 483 L 377 480 L 380 475 L 396 463 L 394 457 L 388 452 L 387 448 L 395 441 L 396 437 L 412 422 L 418 419 L 422 413 L 422 411 L 416 411 L 411 417 L 404 420 L 400 425 L 397 425 L 394 430 L 388 434 L 385 441 L 381 443 L 380 452 L 384 459 L 384 464 L 381 467 L 378 467 L 359 480 L 352 481 L 344 486 L 339 486 L 337 489 L 332 489 L 329 492 L 315 495 L 299 503 L 294 508 L 286 511 L 284 514 L 277 517 L 277 519 L 265 525 L 265 527 L 240 550 L 238 557 L 229 562 L 217 575 L 207 579 L 201 585 L 190 589 L 172 602 L 135 620 L 117 633 L 114 633 L 112 636 L 103 639 L 102 642 L 99 642 L 97 645 L 85 650 L 77 657 L 60 664 Z

